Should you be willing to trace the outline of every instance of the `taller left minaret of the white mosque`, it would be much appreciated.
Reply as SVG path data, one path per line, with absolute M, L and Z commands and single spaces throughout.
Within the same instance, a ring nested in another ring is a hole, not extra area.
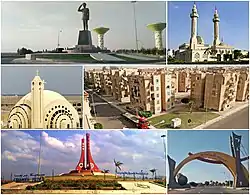
M 190 14 L 191 18 L 191 37 L 190 37 L 190 48 L 196 49 L 197 47 L 197 21 L 198 21 L 198 12 L 196 5 L 193 5 L 192 13 Z

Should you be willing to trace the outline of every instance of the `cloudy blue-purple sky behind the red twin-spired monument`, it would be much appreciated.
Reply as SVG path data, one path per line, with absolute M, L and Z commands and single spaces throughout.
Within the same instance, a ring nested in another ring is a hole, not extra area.
M 55 169 L 55 174 L 74 169 L 80 158 L 81 139 L 86 132 L 90 133 L 91 152 L 99 169 L 114 173 L 115 158 L 124 163 L 122 171 L 149 172 L 156 168 L 158 175 L 166 175 L 161 138 L 165 131 L 42 131 L 41 171 L 49 175 L 52 169 Z M 40 131 L 2 131 L 2 176 L 7 179 L 11 172 L 36 172 L 39 140 Z

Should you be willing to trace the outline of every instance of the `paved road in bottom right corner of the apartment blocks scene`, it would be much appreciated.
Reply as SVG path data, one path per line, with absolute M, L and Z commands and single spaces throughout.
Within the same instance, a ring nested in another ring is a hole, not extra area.
M 205 129 L 249 129 L 249 107 L 209 125 Z

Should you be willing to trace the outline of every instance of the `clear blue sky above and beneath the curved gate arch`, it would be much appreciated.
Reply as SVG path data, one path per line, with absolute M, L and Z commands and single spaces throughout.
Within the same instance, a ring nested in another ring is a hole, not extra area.
M 242 135 L 242 144 L 245 150 L 249 151 L 249 132 L 237 130 L 237 135 Z M 185 130 L 168 131 L 168 155 L 180 163 L 188 157 L 188 152 L 197 153 L 204 151 L 220 151 L 231 155 L 229 136 L 232 131 L 228 130 Z M 245 157 L 242 156 L 242 157 Z M 249 161 L 243 164 L 248 168 Z M 225 181 L 232 179 L 229 171 L 223 165 L 204 163 L 198 160 L 191 161 L 181 170 L 189 181 Z

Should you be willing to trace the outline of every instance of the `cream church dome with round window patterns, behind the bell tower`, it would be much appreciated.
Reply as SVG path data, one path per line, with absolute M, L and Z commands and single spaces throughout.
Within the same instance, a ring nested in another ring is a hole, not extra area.
M 8 127 L 15 129 L 36 128 L 32 126 L 32 108 L 40 106 L 44 129 L 79 128 L 79 115 L 73 105 L 57 92 L 42 90 L 42 106 L 32 104 L 32 92 L 22 97 L 11 109 L 8 117 Z M 36 108 L 37 109 L 37 108 Z

